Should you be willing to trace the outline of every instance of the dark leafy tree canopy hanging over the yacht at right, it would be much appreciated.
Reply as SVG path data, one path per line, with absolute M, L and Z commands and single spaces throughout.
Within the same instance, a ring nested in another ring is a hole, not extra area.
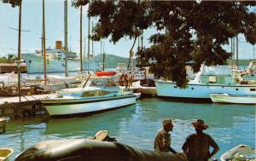
M 248 43 L 256 43 L 256 15 L 250 12 L 256 6 L 253 1 L 73 1 L 76 7 L 87 3 L 89 15 L 97 17 L 94 40 L 136 40 L 144 30 L 154 28 L 148 40 L 152 45 L 137 51 L 137 57 L 155 60 L 155 76 L 175 81 L 179 87 L 188 83 L 187 62 L 194 62 L 195 72 L 202 63 L 224 64 L 230 52 L 223 46 L 230 37 L 241 33 Z

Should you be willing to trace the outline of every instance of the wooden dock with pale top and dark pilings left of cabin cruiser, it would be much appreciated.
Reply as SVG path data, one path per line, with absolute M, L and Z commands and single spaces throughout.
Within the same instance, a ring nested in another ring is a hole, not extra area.
M 51 95 L 22 95 L 13 97 L 0 97 L 0 117 L 26 118 L 37 115 L 48 115 L 40 98 Z

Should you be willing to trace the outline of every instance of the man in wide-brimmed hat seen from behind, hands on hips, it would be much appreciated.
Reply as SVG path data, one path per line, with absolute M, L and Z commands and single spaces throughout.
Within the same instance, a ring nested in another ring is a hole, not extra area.
M 207 161 L 212 158 L 219 150 L 218 144 L 212 139 L 210 135 L 203 132 L 209 127 L 204 120 L 198 119 L 195 123 L 191 123 L 195 127 L 195 134 L 189 135 L 183 144 L 183 152 L 186 153 L 189 161 Z M 210 153 L 209 148 L 213 147 Z

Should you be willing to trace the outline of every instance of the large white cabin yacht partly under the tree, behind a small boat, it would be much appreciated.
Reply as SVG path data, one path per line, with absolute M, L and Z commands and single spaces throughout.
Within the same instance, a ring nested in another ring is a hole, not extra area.
M 210 94 L 256 95 L 256 84 L 236 83 L 230 66 L 201 66 L 185 89 L 172 81 L 155 82 L 157 95 L 185 101 L 211 101 Z

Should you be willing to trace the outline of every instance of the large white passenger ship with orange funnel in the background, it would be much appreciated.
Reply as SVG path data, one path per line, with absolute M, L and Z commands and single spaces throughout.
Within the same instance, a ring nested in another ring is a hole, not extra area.
M 65 54 L 61 47 L 61 42 L 56 41 L 55 49 L 45 49 L 46 55 L 46 72 L 65 72 Z M 44 72 L 44 55 L 41 50 L 36 50 L 33 54 L 23 54 L 22 58 L 26 62 L 27 73 L 43 73 Z M 67 55 L 67 68 L 69 72 L 80 71 L 80 61 L 78 55 L 72 51 Z M 100 63 L 93 58 L 83 60 L 83 69 L 99 70 Z

